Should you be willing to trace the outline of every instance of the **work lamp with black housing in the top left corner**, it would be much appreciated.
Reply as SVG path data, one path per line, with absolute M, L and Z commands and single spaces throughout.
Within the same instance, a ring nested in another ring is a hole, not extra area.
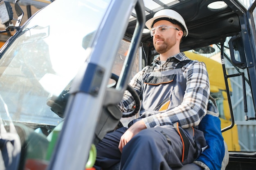
M 13 19 L 13 11 L 9 1 L 0 2 L 0 22 L 6 26 Z

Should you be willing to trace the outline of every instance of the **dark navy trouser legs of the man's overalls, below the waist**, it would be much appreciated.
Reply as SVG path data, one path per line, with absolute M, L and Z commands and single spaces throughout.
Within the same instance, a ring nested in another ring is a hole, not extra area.
M 172 170 L 170 167 L 182 167 L 183 164 L 191 163 L 198 156 L 193 139 L 193 129 L 185 131 L 189 139 L 186 145 L 187 158 L 182 162 L 183 143 L 181 137 L 174 126 L 156 126 L 141 130 L 119 151 L 118 145 L 120 137 L 128 128 L 119 128 L 114 132 L 106 134 L 103 140 L 96 146 L 97 160 L 95 168 L 97 170 L 109 169 L 120 162 L 120 170 Z M 203 133 L 195 130 L 199 141 L 205 146 Z M 200 144 L 197 144 L 199 146 Z

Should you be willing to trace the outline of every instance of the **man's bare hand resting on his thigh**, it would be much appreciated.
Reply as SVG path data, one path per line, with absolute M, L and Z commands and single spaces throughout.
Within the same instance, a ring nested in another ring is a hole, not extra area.
M 145 125 L 144 121 L 142 121 L 142 120 L 137 121 L 130 128 L 128 128 L 128 130 L 126 130 L 124 135 L 121 136 L 119 146 L 118 146 L 120 152 L 122 152 L 124 146 L 128 143 L 128 141 L 130 141 L 130 139 L 132 139 L 132 137 L 137 135 L 137 133 L 139 133 L 143 129 L 146 129 L 146 125 Z

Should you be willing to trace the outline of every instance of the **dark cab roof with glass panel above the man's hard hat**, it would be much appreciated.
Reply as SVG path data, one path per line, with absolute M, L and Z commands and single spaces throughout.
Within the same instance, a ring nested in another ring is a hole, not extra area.
M 216 5 L 211 8 L 209 5 L 213 2 Z M 144 4 L 146 20 L 161 9 L 173 9 L 182 15 L 189 35 L 181 43 L 181 51 L 215 44 L 220 39 L 236 35 L 241 31 L 239 18 L 247 13 L 247 8 L 239 0 L 144 0 Z M 220 8 L 215 9 L 216 6 Z M 132 13 L 127 37 L 131 37 L 135 25 L 136 13 Z M 143 34 L 141 41 L 152 42 L 150 33 Z

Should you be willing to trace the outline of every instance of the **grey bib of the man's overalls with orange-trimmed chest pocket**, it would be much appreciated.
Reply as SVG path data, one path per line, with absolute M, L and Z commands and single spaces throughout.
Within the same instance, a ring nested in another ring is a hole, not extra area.
M 182 63 L 187 64 L 187 62 Z M 169 71 L 153 72 L 152 67 L 148 69 L 143 77 L 142 99 L 146 100 L 142 100 L 140 115 L 143 115 L 145 110 L 171 110 L 182 103 L 186 90 L 186 79 L 181 70 L 183 64 L 180 63 Z

